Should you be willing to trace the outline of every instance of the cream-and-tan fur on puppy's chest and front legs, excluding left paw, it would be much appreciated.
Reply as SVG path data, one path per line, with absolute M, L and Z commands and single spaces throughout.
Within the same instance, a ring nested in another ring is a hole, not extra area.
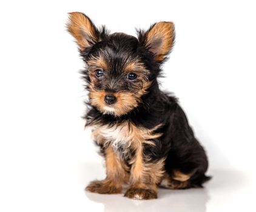
M 155 133 L 155 130 L 161 127 L 161 124 L 146 129 L 127 121 L 116 125 L 101 125 L 92 122 L 92 127 L 93 139 L 98 144 L 107 147 L 107 176 L 113 176 L 112 178 L 116 179 L 115 174 L 118 173 L 118 176 L 122 176 L 121 179 L 124 182 L 128 182 L 127 174 L 122 171 L 122 169 L 126 170 L 127 167 L 122 164 L 122 159 L 119 157 L 120 153 L 116 148 L 124 145 L 122 150 L 124 152 L 121 154 L 126 154 L 125 151 L 130 149 L 135 150 L 135 156 L 131 157 L 129 161 L 132 167 L 129 177 L 130 188 L 125 195 L 133 199 L 156 198 L 157 184 L 160 183 L 164 174 L 165 159 L 158 162 L 149 162 L 149 159 L 143 156 L 143 144 L 154 145 L 152 140 L 158 139 L 162 135 L 161 133 Z

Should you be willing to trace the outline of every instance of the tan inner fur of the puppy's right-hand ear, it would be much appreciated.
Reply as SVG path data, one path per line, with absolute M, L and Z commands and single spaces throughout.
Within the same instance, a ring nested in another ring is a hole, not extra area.
M 155 53 L 157 60 L 164 59 L 170 49 L 172 48 L 174 40 L 174 25 L 172 22 L 158 22 L 147 33 L 147 45 L 150 51 Z M 152 45 L 153 42 L 160 41 L 159 45 Z

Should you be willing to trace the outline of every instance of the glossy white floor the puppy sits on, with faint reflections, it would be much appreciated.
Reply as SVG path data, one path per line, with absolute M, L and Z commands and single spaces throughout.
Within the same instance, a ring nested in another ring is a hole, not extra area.
M 123 194 L 95 194 L 84 191 L 94 179 L 103 179 L 99 163 L 45 164 L 30 167 L 1 182 L 1 211 L 255 211 L 255 183 L 241 171 L 211 170 L 213 179 L 205 188 L 167 190 L 158 199 L 132 200 Z M 44 171 L 47 171 L 44 173 Z M 12 184 L 10 181 L 12 180 Z M 3 192 L 4 191 L 4 192 Z M 123 191 L 124 192 L 124 191 Z

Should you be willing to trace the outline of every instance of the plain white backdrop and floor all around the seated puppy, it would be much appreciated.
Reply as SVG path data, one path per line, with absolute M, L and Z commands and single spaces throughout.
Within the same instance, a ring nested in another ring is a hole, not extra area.
M 1 211 L 255 211 L 254 1 L 1 1 Z M 135 35 L 173 21 L 164 90 L 180 99 L 209 156 L 204 189 L 138 201 L 84 193 L 104 177 L 84 131 L 83 62 L 68 12 Z

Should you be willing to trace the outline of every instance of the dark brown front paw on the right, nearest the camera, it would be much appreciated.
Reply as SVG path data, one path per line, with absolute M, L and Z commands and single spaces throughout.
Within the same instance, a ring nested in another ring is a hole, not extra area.
M 157 199 L 155 191 L 144 188 L 129 188 L 124 196 L 130 199 Z

